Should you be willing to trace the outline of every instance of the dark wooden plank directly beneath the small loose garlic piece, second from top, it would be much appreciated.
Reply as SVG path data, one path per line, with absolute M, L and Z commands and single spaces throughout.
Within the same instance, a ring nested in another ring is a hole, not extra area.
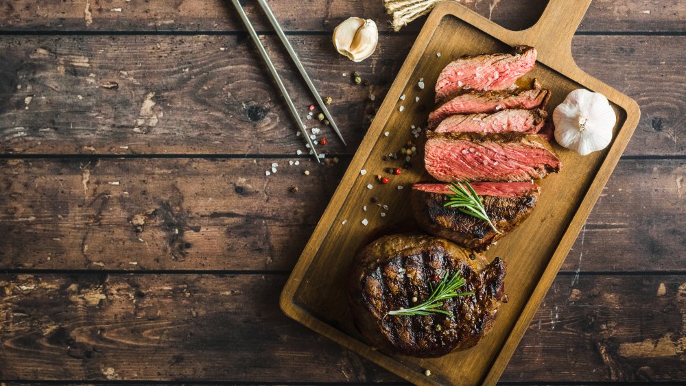
M 382 37 L 377 53 L 359 64 L 333 53 L 327 36 L 290 38 L 322 95 L 333 97 L 332 114 L 350 144 L 342 147 L 324 130 L 331 139 L 326 148 L 352 154 L 413 37 Z M 265 40 L 279 53 L 274 36 Z M 639 129 L 626 154 L 686 154 L 683 45 L 684 36 L 573 39 L 582 69 L 641 105 Z M 305 149 L 272 81 L 254 70 L 262 64 L 252 43 L 241 36 L 0 36 L 0 52 L 5 52 L 0 56 L 3 153 L 295 154 Z M 287 74 L 287 87 L 305 114 L 313 100 L 280 53 L 277 67 Z M 353 84 L 353 71 L 372 85 Z

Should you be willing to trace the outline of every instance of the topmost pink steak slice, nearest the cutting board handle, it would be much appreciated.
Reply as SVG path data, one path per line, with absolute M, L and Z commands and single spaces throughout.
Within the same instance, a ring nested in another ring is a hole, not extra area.
M 504 90 L 536 63 L 536 49 L 514 47 L 515 54 L 493 53 L 463 56 L 448 64 L 436 81 L 436 101 L 447 100 L 469 89 Z

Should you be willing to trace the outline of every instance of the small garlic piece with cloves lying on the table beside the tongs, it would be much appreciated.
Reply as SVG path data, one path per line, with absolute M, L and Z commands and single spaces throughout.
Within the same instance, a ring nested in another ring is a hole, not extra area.
M 333 45 L 341 55 L 353 62 L 362 62 L 377 48 L 379 31 L 371 19 L 351 17 L 333 30 Z

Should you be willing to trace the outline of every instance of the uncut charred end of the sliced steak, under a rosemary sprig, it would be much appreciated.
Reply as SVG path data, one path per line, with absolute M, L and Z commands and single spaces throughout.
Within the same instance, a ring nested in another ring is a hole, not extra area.
M 488 223 L 457 208 L 447 208 L 451 192 L 446 184 L 414 184 L 412 210 L 423 230 L 476 251 L 488 249 L 495 241 L 517 228 L 534 210 L 539 199 L 539 186 L 531 182 L 473 182 L 490 221 Z

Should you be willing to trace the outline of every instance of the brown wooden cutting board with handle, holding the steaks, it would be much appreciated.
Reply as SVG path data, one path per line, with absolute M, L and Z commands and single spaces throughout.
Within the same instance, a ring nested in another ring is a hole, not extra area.
M 283 289 L 281 308 L 289 317 L 412 383 L 496 383 L 639 121 L 635 101 L 581 71 L 571 57 L 571 38 L 589 3 L 551 0 L 539 22 L 520 32 L 499 27 L 452 1 L 431 12 Z M 541 197 L 534 213 L 486 252 L 489 261 L 500 256 L 508 265 L 505 288 L 510 301 L 501 306 L 493 330 L 477 346 L 437 359 L 373 350 L 355 330 L 346 300 L 351 262 L 355 251 L 375 234 L 398 224 L 412 224 L 412 183 L 430 180 L 422 152 L 412 158 L 412 169 L 403 170 L 400 176 L 386 169 L 401 167 L 404 157 L 384 161 L 383 156 L 398 152 L 410 139 L 418 149 L 423 147 L 423 136 L 415 139 L 411 125 L 425 127 L 434 107 L 433 86 L 446 64 L 465 54 L 509 52 L 514 45 L 538 50 L 536 67 L 527 76 L 536 77 L 543 88 L 552 90 L 550 113 L 576 88 L 608 97 L 617 113 L 613 143 L 584 157 L 554 145 L 563 170 L 539 181 Z M 426 84 L 424 90 L 418 87 L 421 78 Z M 405 95 L 404 100 L 401 95 Z M 418 102 L 415 97 L 420 98 Z M 366 174 L 360 173 L 362 169 Z M 390 184 L 379 184 L 377 174 L 388 177 Z M 369 184 L 372 189 L 368 189 Z M 372 197 L 378 202 L 372 202 Z M 388 210 L 377 204 L 387 205 Z M 381 217 L 382 212 L 385 217 Z M 368 220 L 367 226 L 361 223 L 363 219 Z M 431 376 L 425 376 L 425 370 L 430 370 Z

